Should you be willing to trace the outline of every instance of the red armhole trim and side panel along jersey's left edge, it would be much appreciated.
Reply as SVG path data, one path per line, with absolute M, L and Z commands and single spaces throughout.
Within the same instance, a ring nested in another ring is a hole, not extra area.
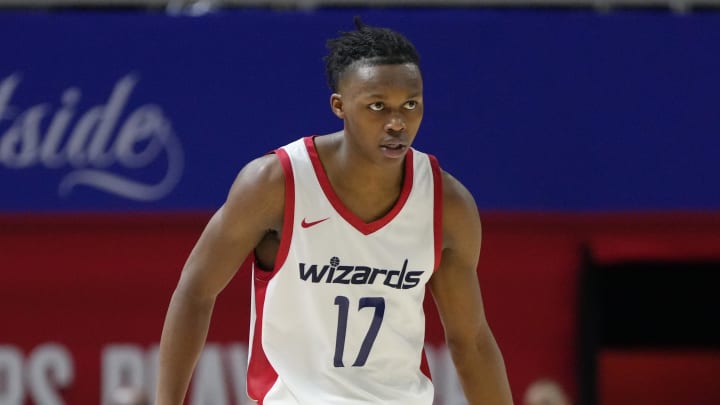
M 252 342 L 252 355 L 248 361 L 247 373 L 247 391 L 250 398 L 257 400 L 259 404 L 263 403 L 265 395 L 277 381 L 277 372 L 268 361 L 265 351 L 262 347 L 262 325 L 263 312 L 265 304 L 265 293 L 267 285 L 272 277 L 277 273 L 287 259 L 288 249 L 290 247 L 290 239 L 293 230 L 294 212 L 295 212 L 295 182 L 290 164 L 290 158 L 287 153 L 278 149 L 275 151 L 285 174 L 285 212 L 283 219 L 282 235 L 280 236 L 280 247 L 278 248 L 277 257 L 275 258 L 275 266 L 271 273 L 263 274 L 262 271 L 253 269 L 255 278 L 253 280 L 255 288 L 255 325 Z M 265 277 L 263 277 L 265 275 Z

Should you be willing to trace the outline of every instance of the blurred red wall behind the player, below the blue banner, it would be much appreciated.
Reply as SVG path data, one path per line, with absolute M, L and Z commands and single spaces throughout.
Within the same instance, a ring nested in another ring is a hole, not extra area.
M 516 402 L 538 377 L 575 395 L 577 271 L 589 244 L 603 261 L 720 258 L 720 214 L 481 213 L 478 275 Z M 209 213 L 0 216 L 0 345 L 71 352 L 66 403 L 97 403 L 101 352 L 159 340 L 180 269 Z M 209 340 L 246 341 L 247 271 L 216 305 Z M 428 304 L 430 343 L 442 330 Z M 29 402 L 28 402 L 29 403 Z

